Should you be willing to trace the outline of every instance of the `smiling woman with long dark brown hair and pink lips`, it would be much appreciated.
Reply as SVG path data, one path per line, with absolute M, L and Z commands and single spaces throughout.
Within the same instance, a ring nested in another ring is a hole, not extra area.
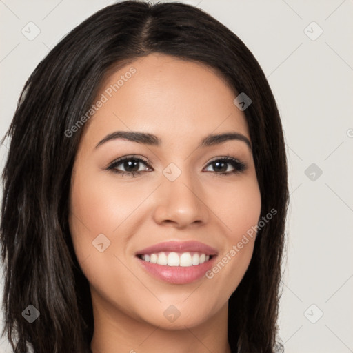
M 228 28 L 182 3 L 103 8 L 39 63 L 7 136 L 14 352 L 279 350 L 283 132 Z

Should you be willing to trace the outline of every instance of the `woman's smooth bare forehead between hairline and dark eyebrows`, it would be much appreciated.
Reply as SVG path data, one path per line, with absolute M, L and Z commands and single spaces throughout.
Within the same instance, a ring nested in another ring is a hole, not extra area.
M 235 97 L 214 68 L 150 54 L 105 78 L 97 95 L 104 103 L 88 121 L 84 135 L 91 143 L 114 130 L 150 132 L 170 142 L 225 131 L 250 139 Z

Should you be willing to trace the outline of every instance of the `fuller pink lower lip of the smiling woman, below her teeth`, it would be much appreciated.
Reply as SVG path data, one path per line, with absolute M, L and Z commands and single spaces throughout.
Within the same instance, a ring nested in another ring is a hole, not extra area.
M 158 265 L 157 263 L 144 261 L 139 257 L 137 257 L 137 259 L 146 271 L 158 279 L 172 284 L 187 284 L 197 281 L 205 276 L 205 272 L 212 268 L 216 256 L 213 256 L 212 259 L 201 263 L 200 265 L 192 265 L 188 267 Z

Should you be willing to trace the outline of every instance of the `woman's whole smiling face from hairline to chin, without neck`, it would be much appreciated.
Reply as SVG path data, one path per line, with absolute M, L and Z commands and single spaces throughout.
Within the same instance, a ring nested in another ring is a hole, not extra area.
M 254 248 L 255 236 L 243 236 L 261 212 L 235 97 L 208 66 L 163 54 L 104 81 L 70 190 L 70 231 L 94 312 L 181 328 L 228 305 Z M 234 135 L 210 138 L 219 134 Z

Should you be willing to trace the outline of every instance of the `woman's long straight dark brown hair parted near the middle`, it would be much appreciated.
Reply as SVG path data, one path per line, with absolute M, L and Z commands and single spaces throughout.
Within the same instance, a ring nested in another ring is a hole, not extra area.
M 74 28 L 26 82 L 6 137 L 1 255 L 3 310 L 15 353 L 90 352 L 93 333 L 88 280 L 74 254 L 68 199 L 81 132 L 67 132 L 87 112 L 112 67 L 150 53 L 209 65 L 239 94 L 261 191 L 261 228 L 243 280 L 230 296 L 228 339 L 232 352 L 273 353 L 288 208 L 285 144 L 268 81 L 250 50 L 223 24 L 183 3 L 123 1 Z M 118 66 L 117 66 L 118 65 Z M 234 96 L 235 98 L 236 96 Z M 33 305 L 40 317 L 21 312 Z

